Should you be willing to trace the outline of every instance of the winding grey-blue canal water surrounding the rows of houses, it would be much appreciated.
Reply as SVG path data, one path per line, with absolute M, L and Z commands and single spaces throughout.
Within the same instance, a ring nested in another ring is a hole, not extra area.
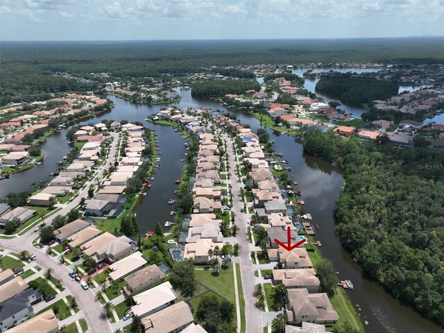
M 306 80 L 307 82 L 307 80 Z M 212 110 L 228 111 L 236 114 L 241 123 L 250 124 L 253 130 L 261 125 L 250 114 L 226 108 L 220 103 L 208 99 L 194 99 L 191 92 L 180 91 L 182 96 L 179 103 L 175 103 L 178 108 L 211 108 Z M 173 191 L 177 188 L 174 184 L 176 178 L 180 178 L 183 172 L 183 164 L 180 162 L 185 154 L 185 139 L 173 131 L 169 126 L 153 125 L 144 121 L 148 114 L 156 113 L 162 106 L 160 105 L 137 105 L 129 103 L 114 96 L 108 96 L 114 101 L 114 109 L 101 117 L 85 121 L 84 123 L 99 123 L 103 119 L 114 119 L 120 121 L 140 121 L 148 128 L 155 128 L 155 133 L 159 139 L 162 155 L 160 155 L 160 169 L 155 174 L 153 187 L 148 191 L 141 205 L 136 209 L 137 220 L 141 225 L 141 233 L 146 230 L 153 230 L 156 221 L 162 224 L 164 221 L 171 221 L 169 212 L 173 209 L 167 204 L 167 200 L 173 196 Z M 163 106 L 164 107 L 164 106 Z M 341 242 L 334 235 L 334 203 L 341 193 L 343 178 L 338 169 L 331 164 L 310 157 L 302 152 L 302 144 L 295 142 L 293 137 L 280 135 L 273 130 L 267 129 L 270 138 L 275 141 L 275 150 L 284 154 L 284 160 L 289 161 L 292 168 L 291 178 L 299 182 L 298 187 L 302 189 L 302 199 L 305 200 L 305 212 L 313 216 L 314 224 L 319 225 L 320 230 L 316 234 L 316 239 L 323 244 L 321 252 L 329 259 L 332 259 L 339 278 L 352 280 L 355 288 L 346 291 L 352 304 L 361 315 L 362 321 L 368 321 L 365 325 L 366 332 L 369 333 L 409 333 L 409 332 L 443 332 L 442 327 L 434 325 L 425 320 L 415 311 L 402 305 L 398 300 L 392 298 L 378 284 L 364 278 L 361 268 L 352 261 L 349 253 L 341 247 Z M 51 141 L 50 139 L 53 139 Z M 45 153 L 45 162 L 33 169 L 17 174 L 17 177 L 10 178 L 7 184 L 11 184 L 14 179 L 15 186 L 8 185 L 3 189 L 5 180 L 0 182 L 3 195 L 8 191 L 17 191 L 19 188 L 26 188 L 31 182 L 40 181 L 42 175 L 49 175 L 55 169 L 54 163 L 62 159 L 69 147 L 65 139 L 64 131 L 58 136 L 46 139 L 46 144 L 42 146 Z M 53 152 L 53 162 L 49 162 Z M 42 170 L 36 168 L 43 168 Z M 38 173 L 37 173 L 38 171 Z M 42 172 L 42 173 L 40 173 Z M 361 310 L 358 310 L 361 308 Z

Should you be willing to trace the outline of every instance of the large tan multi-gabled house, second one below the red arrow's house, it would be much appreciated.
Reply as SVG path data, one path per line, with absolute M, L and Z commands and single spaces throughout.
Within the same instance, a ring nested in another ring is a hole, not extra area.
M 302 321 L 336 323 L 339 316 L 334 311 L 326 293 L 309 293 L 307 289 L 287 289 L 285 313 L 290 324 Z

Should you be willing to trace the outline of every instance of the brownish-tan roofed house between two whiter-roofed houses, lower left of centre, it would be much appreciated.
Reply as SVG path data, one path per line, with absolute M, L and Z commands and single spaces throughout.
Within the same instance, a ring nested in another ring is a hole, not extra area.
M 138 293 L 152 284 L 162 281 L 166 276 L 157 265 L 146 266 L 123 279 L 126 282 L 123 287 L 123 294 L 130 296 L 133 293 Z

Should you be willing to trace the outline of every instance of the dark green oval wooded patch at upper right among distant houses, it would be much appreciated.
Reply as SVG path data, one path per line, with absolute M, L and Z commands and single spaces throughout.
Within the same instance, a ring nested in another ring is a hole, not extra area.
M 388 80 L 378 80 L 351 73 L 335 73 L 321 78 L 316 83 L 316 91 L 334 96 L 343 103 L 361 105 L 376 99 L 388 99 L 398 94 L 399 86 Z

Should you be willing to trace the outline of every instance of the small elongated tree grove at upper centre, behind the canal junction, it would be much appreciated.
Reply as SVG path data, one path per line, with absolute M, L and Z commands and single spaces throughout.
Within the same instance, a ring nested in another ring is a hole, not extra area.
M 259 92 L 261 85 L 256 80 L 206 80 L 191 86 L 191 96 L 223 97 L 226 94 L 244 94 L 250 89 Z

